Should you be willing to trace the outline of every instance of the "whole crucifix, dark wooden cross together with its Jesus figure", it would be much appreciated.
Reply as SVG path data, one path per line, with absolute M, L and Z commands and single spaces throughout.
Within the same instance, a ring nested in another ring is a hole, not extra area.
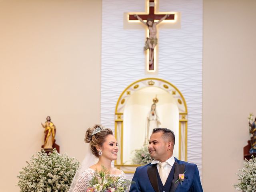
M 146 38 L 144 50 L 148 51 L 148 71 L 155 70 L 154 53 L 157 45 L 157 28 L 156 25 L 163 20 L 174 20 L 174 14 L 155 14 L 155 2 L 149 0 L 149 13 L 148 14 L 129 14 L 130 20 L 139 20 L 148 27 L 148 37 Z M 144 21 L 146 20 L 146 22 Z M 158 20 L 154 22 L 154 20 Z

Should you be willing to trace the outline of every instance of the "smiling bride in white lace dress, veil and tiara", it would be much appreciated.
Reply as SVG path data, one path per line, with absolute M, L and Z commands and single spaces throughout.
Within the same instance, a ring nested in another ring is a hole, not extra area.
M 95 172 L 101 171 L 102 167 L 110 172 L 111 176 L 126 179 L 122 170 L 111 166 L 111 162 L 117 159 L 118 152 L 116 138 L 113 136 L 111 129 L 96 124 L 92 128 L 88 128 L 84 141 L 89 143 L 90 150 L 88 150 L 84 161 L 78 168 L 69 192 L 85 192 Z M 98 158 L 98 162 L 93 164 L 95 157 Z

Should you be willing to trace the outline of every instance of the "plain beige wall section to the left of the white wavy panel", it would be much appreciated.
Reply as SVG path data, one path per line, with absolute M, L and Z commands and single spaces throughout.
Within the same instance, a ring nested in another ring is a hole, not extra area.
M 0 192 L 18 192 L 46 116 L 79 160 L 100 121 L 101 1 L 0 0 L 0 28 Z

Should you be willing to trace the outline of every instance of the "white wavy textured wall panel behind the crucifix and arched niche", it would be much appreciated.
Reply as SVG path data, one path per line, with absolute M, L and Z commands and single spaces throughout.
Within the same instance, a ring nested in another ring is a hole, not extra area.
M 180 29 L 160 29 L 159 71 L 144 72 L 144 30 L 124 30 L 124 12 L 143 12 L 144 0 L 102 0 L 101 123 L 114 130 L 116 102 L 146 77 L 174 84 L 188 106 L 188 162 L 202 172 L 202 0 L 159 0 L 159 11 L 181 13 Z

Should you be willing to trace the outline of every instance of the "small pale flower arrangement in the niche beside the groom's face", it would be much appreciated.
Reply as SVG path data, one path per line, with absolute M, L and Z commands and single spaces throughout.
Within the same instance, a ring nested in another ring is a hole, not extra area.
M 132 163 L 136 165 L 146 165 L 152 162 L 152 158 L 148 152 L 148 145 L 145 144 L 140 149 L 134 150 L 134 156 L 132 157 Z

